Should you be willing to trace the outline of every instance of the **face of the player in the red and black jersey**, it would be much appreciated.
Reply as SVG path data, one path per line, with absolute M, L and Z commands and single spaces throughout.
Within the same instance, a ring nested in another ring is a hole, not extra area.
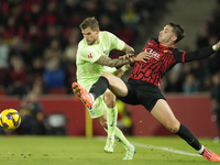
M 172 45 L 175 43 L 176 41 L 176 35 L 173 32 L 173 28 L 170 25 L 166 25 L 158 35 L 158 42 L 161 44 L 165 44 L 165 45 Z

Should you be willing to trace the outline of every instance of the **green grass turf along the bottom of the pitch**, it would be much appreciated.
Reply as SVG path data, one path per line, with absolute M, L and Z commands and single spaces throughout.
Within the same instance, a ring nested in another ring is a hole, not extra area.
M 105 138 L 69 136 L 0 136 L 1 165 L 207 165 L 200 156 L 168 152 L 178 150 L 197 154 L 178 138 L 129 138 L 136 144 L 133 161 L 123 161 L 124 150 L 118 144 L 113 154 L 103 152 Z M 220 155 L 219 143 L 200 139 L 208 148 Z M 152 147 L 153 146 L 153 147 Z M 162 151 L 156 146 L 168 148 Z M 220 164 L 220 163 L 213 163 Z

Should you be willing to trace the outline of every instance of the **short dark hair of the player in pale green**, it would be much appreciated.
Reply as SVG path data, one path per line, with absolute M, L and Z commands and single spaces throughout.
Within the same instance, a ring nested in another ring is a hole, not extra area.
M 97 21 L 97 19 L 95 16 L 87 18 L 80 23 L 79 28 L 81 30 L 90 28 L 92 31 L 96 31 L 99 29 L 99 22 Z

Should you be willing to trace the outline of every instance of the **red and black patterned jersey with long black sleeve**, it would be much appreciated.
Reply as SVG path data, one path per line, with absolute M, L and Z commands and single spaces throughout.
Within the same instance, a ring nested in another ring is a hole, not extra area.
M 150 82 L 161 88 L 162 77 L 173 68 L 177 63 L 191 62 L 194 59 L 205 58 L 213 53 L 211 47 L 205 51 L 196 51 L 186 53 L 178 48 L 165 47 L 160 44 L 157 38 L 151 38 L 143 48 L 151 54 L 146 63 L 135 62 L 131 75 L 128 80 L 141 80 Z

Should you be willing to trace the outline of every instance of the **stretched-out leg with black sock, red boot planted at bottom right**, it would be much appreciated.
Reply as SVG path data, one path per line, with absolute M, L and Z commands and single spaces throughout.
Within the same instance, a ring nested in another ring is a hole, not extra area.
M 168 103 L 164 99 L 157 100 L 151 113 L 170 132 L 184 139 L 190 146 L 193 146 L 196 151 L 198 151 L 198 153 L 201 154 L 206 160 L 218 161 L 218 162 L 220 161 L 219 156 L 216 153 L 204 147 L 196 139 L 196 136 L 194 136 L 194 134 L 188 130 L 188 128 L 182 124 L 176 119 Z

